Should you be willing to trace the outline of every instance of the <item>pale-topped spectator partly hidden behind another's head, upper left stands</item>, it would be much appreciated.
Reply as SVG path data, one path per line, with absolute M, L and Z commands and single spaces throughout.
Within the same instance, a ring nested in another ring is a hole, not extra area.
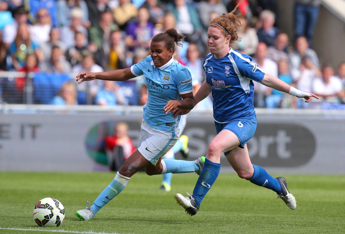
M 51 28 L 50 33 L 49 33 L 49 41 L 40 44 L 40 49 L 42 51 L 44 61 L 50 60 L 51 50 L 53 46 L 59 46 L 62 52 L 66 51 L 66 46 L 60 39 L 61 39 L 60 29 Z

